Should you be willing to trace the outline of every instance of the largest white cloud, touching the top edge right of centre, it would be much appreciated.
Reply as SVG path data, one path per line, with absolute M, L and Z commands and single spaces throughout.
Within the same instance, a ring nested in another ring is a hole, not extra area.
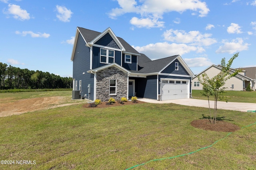
M 158 21 L 162 19 L 164 13 L 179 12 L 192 10 L 194 14 L 198 12 L 200 17 L 206 16 L 210 11 L 206 2 L 200 0 L 116 0 L 120 8 L 113 8 L 108 16 L 116 19 L 126 13 L 140 14 L 141 19 L 132 18 L 130 23 L 135 23 L 138 27 L 163 27 L 164 22 Z M 138 4 L 140 3 L 140 4 Z M 132 22 L 133 21 L 133 22 Z M 138 21 L 144 21 L 146 24 L 138 24 Z M 154 23 L 154 24 L 152 24 Z M 157 26 L 156 26 L 157 25 Z

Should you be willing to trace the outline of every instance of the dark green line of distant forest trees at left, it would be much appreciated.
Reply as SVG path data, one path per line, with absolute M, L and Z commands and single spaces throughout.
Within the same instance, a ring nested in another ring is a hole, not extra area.
M 21 69 L 0 62 L 0 89 L 72 88 L 72 77 L 60 77 L 49 72 Z

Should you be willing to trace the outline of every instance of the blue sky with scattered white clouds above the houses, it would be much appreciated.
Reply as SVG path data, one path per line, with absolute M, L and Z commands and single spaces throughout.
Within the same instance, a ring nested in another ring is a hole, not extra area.
M 0 0 L 0 62 L 72 77 L 76 27 L 110 27 L 150 59 L 180 55 L 194 74 L 239 56 L 256 66 L 256 0 Z

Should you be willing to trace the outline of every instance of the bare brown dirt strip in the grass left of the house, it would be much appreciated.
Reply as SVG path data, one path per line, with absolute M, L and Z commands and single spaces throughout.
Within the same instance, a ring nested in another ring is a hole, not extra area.
M 7 100 L 7 99 L 5 99 Z M 11 98 L 8 102 L 0 102 L 0 117 L 19 115 L 31 111 L 51 109 L 55 107 L 68 106 L 63 104 L 66 98 L 61 96 L 21 99 L 14 102 Z

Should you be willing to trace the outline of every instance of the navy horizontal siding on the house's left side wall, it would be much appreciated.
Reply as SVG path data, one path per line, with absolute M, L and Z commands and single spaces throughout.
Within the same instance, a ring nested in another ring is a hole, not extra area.
M 81 97 L 84 96 L 84 94 L 88 95 L 87 86 L 91 84 L 90 100 L 94 100 L 94 75 L 87 73 L 88 70 L 90 70 L 90 48 L 86 47 L 84 39 L 79 34 L 73 59 L 73 78 L 78 82 L 77 90 L 79 90 L 79 81 L 82 80 Z M 83 74 L 83 72 L 85 74 Z

